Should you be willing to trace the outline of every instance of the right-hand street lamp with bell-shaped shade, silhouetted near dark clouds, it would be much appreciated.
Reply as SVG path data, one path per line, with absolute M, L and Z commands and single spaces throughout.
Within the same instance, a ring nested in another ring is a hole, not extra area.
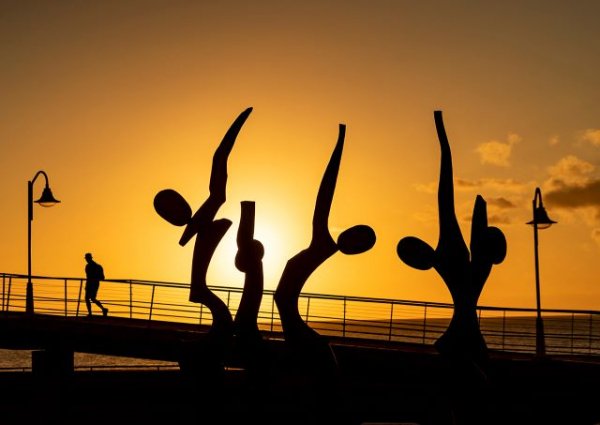
M 538 260 L 538 229 L 547 229 L 555 224 L 556 221 L 548 217 L 548 213 L 542 203 L 542 191 L 539 187 L 535 189 L 533 197 L 533 220 L 527 224 L 533 225 L 533 247 L 535 252 L 535 296 L 537 303 L 537 317 L 535 321 L 535 354 L 537 357 L 543 357 L 546 354 L 546 343 L 544 341 L 544 322 L 542 321 L 542 309 L 540 305 L 540 268 Z

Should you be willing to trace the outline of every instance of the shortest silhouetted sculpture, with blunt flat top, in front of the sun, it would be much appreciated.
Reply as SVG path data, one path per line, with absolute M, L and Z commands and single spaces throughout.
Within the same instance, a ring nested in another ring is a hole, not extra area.
M 238 252 L 235 267 L 246 274 L 244 290 L 235 315 L 235 336 L 244 365 L 249 368 L 263 363 L 263 340 L 258 329 L 258 312 L 263 294 L 264 248 L 254 239 L 254 202 L 242 201 L 240 226 L 237 233 Z

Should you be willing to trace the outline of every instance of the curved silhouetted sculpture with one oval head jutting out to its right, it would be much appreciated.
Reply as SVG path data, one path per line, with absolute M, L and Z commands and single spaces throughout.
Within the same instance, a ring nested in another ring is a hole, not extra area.
M 366 225 L 357 225 L 345 230 L 338 237 L 337 243 L 329 232 L 329 212 L 344 148 L 345 132 L 346 126 L 340 124 L 338 140 L 317 195 L 310 245 L 287 262 L 275 291 L 275 303 L 293 361 L 297 363 L 297 367 L 323 376 L 336 371 L 337 361 L 328 341 L 308 326 L 300 316 L 300 292 L 310 275 L 337 251 L 358 254 L 371 249 L 375 244 L 375 232 Z

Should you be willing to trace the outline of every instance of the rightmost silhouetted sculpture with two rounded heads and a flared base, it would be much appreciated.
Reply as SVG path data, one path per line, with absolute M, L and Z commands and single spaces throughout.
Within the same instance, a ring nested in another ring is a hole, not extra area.
M 419 270 L 433 267 L 450 290 L 454 313 L 450 325 L 435 342 L 437 350 L 451 358 L 471 360 L 481 365 L 487 360 L 487 346 L 477 318 L 477 301 L 493 264 L 506 256 L 504 234 L 488 226 L 486 203 L 478 195 L 473 209 L 471 253 L 463 239 L 454 211 L 452 155 L 442 121 L 442 112 L 434 112 L 441 147 L 438 188 L 439 239 L 433 250 L 416 237 L 403 238 L 397 247 L 406 264 Z

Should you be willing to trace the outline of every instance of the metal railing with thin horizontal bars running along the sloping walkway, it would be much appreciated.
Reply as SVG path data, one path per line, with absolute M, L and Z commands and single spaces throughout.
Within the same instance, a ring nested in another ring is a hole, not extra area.
M 25 312 L 27 276 L 2 273 L 1 310 Z M 33 276 L 35 312 L 61 316 L 87 314 L 85 280 Z M 242 290 L 211 286 L 235 315 Z M 102 281 L 99 299 L 110 316 L 209 325 L 210 311 L 188 301 L 189 285 L 145 280 Z M 274 291 L 265 290 L 258 321 L 261 330 L 281 332 Z M 301 294 L 304 320 L 322 335 L 432 344 L 446 330 L 453 305 L 447 303 Z M 95 309 L 96 307 L 93 306 Z M 478 307 L 481 331 L 492 350 L 535 353 L 535 309 Z M 600 311 L 543 310 L 546 352 L 550 355 L 600 357 Z

